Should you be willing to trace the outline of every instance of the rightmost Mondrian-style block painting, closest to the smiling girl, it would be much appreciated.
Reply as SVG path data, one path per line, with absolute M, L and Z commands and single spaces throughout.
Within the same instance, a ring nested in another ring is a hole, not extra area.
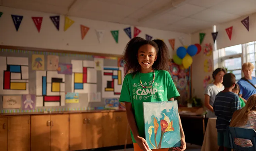
M 120 97 L 124 78 L 124 67 L 103 67 L 102 97 Z

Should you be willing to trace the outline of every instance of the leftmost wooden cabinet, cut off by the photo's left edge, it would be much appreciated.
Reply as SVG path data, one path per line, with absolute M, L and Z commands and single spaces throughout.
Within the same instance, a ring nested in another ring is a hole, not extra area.
M 29 123 L 29 116 L 0 118 L 0 151 L 28 151 Z

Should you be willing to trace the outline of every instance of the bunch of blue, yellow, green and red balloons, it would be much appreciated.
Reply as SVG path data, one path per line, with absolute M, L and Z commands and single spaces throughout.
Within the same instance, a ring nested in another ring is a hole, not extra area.
M 188 69 L 193 62 L 192 57 L 199 54 L 201 50 L 202 48 L 199 44 L 190 45 L 188 47 L 179 47 L 176 54 L 173 56 L 173 61 L 177 65 L 183 65 L 185 69 Z

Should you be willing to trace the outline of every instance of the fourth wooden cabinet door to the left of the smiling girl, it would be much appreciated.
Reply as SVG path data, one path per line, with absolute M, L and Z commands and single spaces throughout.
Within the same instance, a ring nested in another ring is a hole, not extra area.
M 89 138 L 86 134 L 86 114 L 70 114 L 70 150 L 86 149 L 86 139 Z

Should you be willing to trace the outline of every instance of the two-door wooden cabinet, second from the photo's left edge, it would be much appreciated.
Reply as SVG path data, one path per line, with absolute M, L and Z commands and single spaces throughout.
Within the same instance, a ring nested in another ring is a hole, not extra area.
M 31 151 L 69 150 L 69 115 L 31 116 Z

